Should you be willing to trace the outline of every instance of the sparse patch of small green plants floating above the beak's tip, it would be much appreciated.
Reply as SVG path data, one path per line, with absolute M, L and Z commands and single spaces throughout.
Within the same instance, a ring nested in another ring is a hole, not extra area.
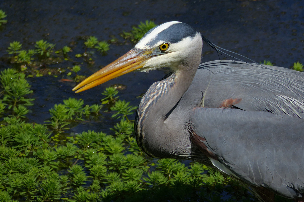
M 99 52 L 105 53 L 109 50 L 109 44 L 106 41 L 98 41 L 96 37 L 91 36 L 86 42 L 85 45 L 87 48 L 94 48 Z M 75 61 L 77 58 L 88 55 L 85 54 L 76 54 L 75 58 L 71 58 L 68 53 L 72 51 L 69 46 L 64 46 L 63 48 L 54 51 L 55 44 L 51 44 L 43 39 L 36 41 L 34 49 L 23 50 L 22 44 L 20 41 L 13 41 L 10 43 L 7 48 L 7 52 L 11 57 L 4 58 L 10 63 L 16 64 L 19 66 L 21 71 L 26 71 L 29 77 L 39 77 L 43 75 L 54 75 L 57 76 L 66 71 L 66 68 L 60 68 L 60 71 L 57 71 L 50 66 L 53 64 L 59 64 L 63 61 L 70 61 L 76 64 L 79 62 Z M 88 64 L 94 64 L 94 61 L 90 57 L 82 57 L 85 62 Z M 43 67 L 43 68 L 41 68 Z M 69 69 L 69 68 L 67 68 Z M 76 73 L 71 81 L 81 81 L 85 77 L 77 74 L 80 71 L 79 65 L 74 65 L 71 69 L 71 72 L 67 73 L 67 76 L 72 75 L 72 72 Z

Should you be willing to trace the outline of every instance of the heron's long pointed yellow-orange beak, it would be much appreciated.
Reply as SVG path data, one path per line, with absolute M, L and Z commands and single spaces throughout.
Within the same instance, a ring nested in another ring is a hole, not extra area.
M 128 72 L 142 68 L 151 56 L 150 54 L 150 51 L 143 51 L 133 48 L 111 64 L 105 66 L 101 70 L 95 72 L 83 80 L 72 90 L 75 91 L 75 93 L 79 93 L 93 88 L 99 84 L 105 83 L 106 81 L 109 81 L 113 78 L 124 75 Z

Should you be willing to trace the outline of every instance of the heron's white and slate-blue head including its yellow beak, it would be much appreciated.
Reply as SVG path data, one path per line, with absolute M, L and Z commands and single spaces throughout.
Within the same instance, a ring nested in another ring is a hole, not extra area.
M 201 56 L 199 31 L 181 22 L 166 22 L 150 29 L 133 49 L 86 78 L 73 88 L 76 93 L 131 71 L 150 71 L 169 67 L 178 71 L 181 64 Z M 197 60 L 197 59 L 196 59 Z

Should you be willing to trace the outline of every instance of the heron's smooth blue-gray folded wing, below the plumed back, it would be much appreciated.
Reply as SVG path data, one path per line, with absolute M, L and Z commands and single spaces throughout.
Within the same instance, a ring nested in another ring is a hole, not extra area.
M 195 133 L 234 174 L 285 197 L 304 192 L 304 124 L 265 111 L 195 108 Z

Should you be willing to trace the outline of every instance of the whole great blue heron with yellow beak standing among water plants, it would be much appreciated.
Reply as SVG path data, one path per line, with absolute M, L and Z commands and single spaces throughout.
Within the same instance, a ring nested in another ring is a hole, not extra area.
M 200 64 L 202 42 L 185 23 L 161 24 L 73 90 L 169 67 L 171 74 L 150 86 L 137 109 L 139 147 L 151 157 L 199 161 L 302 200 L 304 74 L 232 60 Z

